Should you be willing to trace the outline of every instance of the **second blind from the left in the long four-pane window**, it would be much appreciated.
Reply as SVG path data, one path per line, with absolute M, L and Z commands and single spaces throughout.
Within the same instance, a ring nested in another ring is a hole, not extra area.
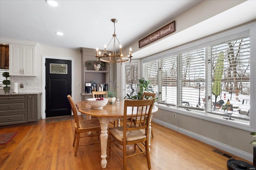
M 177 104 L 177 56 L 159 60 L 158 103 Z

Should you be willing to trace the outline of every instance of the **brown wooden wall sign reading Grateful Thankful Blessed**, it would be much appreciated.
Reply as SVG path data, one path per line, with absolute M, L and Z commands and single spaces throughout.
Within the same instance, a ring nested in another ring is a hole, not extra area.
M 154 33 L 140 40 L 139 48 L 144 47 L 145 45 L 148 45 L 170 33 L 173 33 L 174 31 L 175 31 L 175 21 L 172 21 L 171 23 L 165 25 L 164 27 L 158 29 Z

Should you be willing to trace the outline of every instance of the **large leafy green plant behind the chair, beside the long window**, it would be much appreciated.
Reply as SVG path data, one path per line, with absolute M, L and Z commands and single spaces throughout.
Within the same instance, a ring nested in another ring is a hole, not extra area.
M 140 91 L 132 96 L 132 94 L 126 94 L 125 98 L 134 99 L 134 100 L 142 100 L 143 92 L 152 92 L 154 93 L 153 87 L 150 85 L 151 80 L 145 80 L 144 77 L 138 80 L 138 86 Z

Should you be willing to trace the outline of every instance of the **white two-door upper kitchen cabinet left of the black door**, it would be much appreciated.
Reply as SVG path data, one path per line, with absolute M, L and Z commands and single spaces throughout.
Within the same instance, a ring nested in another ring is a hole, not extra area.
M 35 46 L 9 44 L 9 74 L 36 76 Z

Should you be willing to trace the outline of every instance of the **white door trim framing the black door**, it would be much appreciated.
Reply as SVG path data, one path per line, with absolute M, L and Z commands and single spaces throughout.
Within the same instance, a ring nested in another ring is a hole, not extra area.
M 75 89 L 74 89 L 74 58 L 72 57 L 58 57 L 58 56 L 49 56 L 49 55 L 42 55 L 42 119 L 46 118 L 45 114 L 45 63 L 46 59 L 60 59 L 60 60 L 71 60 L 72 65 L 72 83 L 71 83 L 71 90 L 72 90 L 72 97 L 75 98 Z

